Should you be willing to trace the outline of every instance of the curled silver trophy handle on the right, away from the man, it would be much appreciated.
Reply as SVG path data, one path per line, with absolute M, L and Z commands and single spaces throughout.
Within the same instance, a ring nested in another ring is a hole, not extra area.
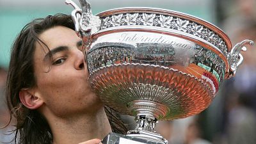
M 235 76 L 237 67 L 241 65 L 244 58 L 242 54 L 240 54 L 241 51 L 246 51 L 246 47 L 244 45 L 254 45 L 254 42 L 252 40 L 243 40 L 242 42 L 239 42 L 236 44 L 228 54 L 228 63 L 230 65 L 230 72 L 229 76 Z

